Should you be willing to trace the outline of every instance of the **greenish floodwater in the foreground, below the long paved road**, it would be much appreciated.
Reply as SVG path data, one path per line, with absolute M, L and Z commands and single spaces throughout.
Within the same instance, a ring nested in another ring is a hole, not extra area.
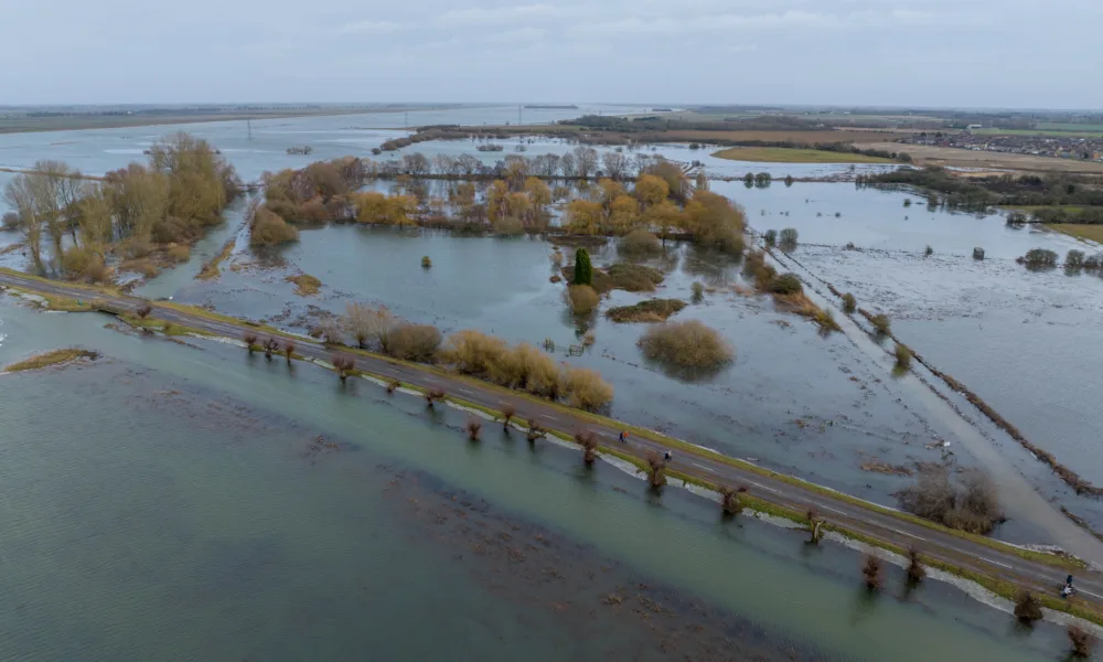
M 19 660 L 1054 659 L 950 585 L 366 381 L 0 298 L 0 645 Z M 191 345 L 191 346 L 189 346 Z M 64 416 L 56 415 L 64 412 Z M 431 636 L 427 636 L 431 633 Z

